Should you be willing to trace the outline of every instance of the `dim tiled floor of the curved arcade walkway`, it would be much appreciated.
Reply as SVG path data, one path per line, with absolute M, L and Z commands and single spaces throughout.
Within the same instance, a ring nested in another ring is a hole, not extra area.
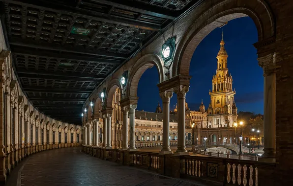
M 37 153 L 18 171 L 18 186 L 201 186 L 121 166 L 80 152 L 79 147 Z M 11 175 L 13 176 L 13 175 Z M 15 176 L 14 176 L 15 177 Z M 16 176 L 17 177 L 17 176 Z M 10 185 L 12 180 L 9 179 Z M 9 185 L 9 182 L 7 185 Z M 21 185 L 20 185 L 21 184 Z M 9 185 L 9 186 L 10 186 Z

